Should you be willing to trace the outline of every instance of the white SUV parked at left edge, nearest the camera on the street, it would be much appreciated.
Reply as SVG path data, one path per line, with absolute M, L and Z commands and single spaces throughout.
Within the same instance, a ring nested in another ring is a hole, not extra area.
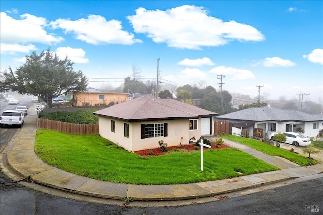
M 18 125 L 19 127 L 22 127 L 24 120 L 25 116 L 21 111 L 6 110 L 0 116 L 0 126 Z

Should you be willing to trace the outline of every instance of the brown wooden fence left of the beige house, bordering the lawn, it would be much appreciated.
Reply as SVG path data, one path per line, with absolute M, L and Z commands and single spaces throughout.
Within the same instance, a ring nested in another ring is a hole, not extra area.
M 74 124 L 39 118 L 38 128 L 55 130 L 66 134 L 98 134 L 99 125 Z

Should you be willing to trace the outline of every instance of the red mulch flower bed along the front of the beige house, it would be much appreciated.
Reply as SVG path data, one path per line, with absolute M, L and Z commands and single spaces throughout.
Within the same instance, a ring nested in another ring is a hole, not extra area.
M 207 148 L 207 147 L 203 147 L 203 150 L 209 150 L 209 149 L 222 149 L 222 148 L 231 148 L 230 146 L 227 145 L 219 145 L 218 148 L 216 147 L 215 143 L 211 143 L 211 148 Z M 190 145 L 177 145 L 177 146 L 169 146 L 168 151 L 166 152 L 162 152 L 160 148 L 153 148 L 153 149 L 146 149 L 146 150 L 141 150 L 141 151 L 134 151 L 134 153 L 143 156 L 143 157 L 152 157 L 152 156 L 159 156 L 159 155 L 163 155 L 168 153 L 171 150 L 174 149 L 185 149 L 186 151 L 190 152 L 190 151 L 201 151 L 200 146 L 198 147 L 198 150 L 194 150 L 195 144 L 190 144 Z M 149 152 L 153 152 L 152 155 L 149 155 Z

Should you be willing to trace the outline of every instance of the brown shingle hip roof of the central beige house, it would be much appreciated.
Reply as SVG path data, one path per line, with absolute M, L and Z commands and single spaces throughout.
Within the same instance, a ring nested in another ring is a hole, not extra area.
M 127 121 L 185 119 L 217 115 L 215 112 L 174 99 L 153 99 L 152 96 L 142 96 L 96 111 L 94 114 Z

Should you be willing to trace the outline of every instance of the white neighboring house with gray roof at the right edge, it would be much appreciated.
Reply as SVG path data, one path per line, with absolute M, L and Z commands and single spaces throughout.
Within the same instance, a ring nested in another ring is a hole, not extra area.
M 316 137 L 323 128 L 323 115 L 307 114 L 296 110 L 270 108 L 248 108 L 215 117 L 214 120 L 229 120 L 233 127 L 248 129 L 253 134 L 254 128 L 263 129 L 264 136 L 272 132 L 298 132 L 308 137 Z

